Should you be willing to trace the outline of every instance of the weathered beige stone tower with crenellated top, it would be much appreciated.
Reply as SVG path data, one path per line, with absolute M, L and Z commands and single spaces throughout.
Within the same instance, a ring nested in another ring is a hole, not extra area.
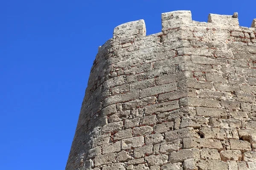
M 256 20 L 190 11 L 99 47 L 66 170 L 256 170 Z

